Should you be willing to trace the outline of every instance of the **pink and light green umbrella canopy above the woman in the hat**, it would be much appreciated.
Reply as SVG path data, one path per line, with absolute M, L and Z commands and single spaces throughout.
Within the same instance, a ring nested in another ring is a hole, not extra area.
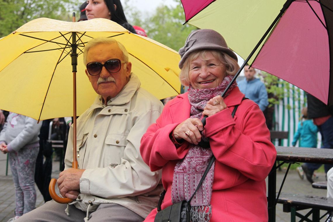
M 333 104 L 332 0 L 181 2 L 188 24 L 219 32 L 245 63 Z

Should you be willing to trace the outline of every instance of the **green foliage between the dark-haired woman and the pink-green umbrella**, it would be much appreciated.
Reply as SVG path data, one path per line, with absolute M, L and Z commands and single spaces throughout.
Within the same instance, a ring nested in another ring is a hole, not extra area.
M 154 39 L 171 49 L 178 51 L 184 46 L 187 36 L 196 27 L 182 25 L 185 22 L 183 7 L 180 0 L 176 0 L 177 6 L 159 6 L 155 13 L 142 18 L 142 13 L 124 4 L 124 10 L 132 25 L 141 26 L 147 32 L 149 38 Z

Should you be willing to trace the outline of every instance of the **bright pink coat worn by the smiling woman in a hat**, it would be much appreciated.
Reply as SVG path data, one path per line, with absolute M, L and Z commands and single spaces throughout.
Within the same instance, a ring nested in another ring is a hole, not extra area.
M 178 149 L 169 133 L 190 116 L 188 93 L 166 104 L 161 116 L 141 139 L 140 152 L 152 171 L 163 169 L 166 195 L 162 209 L 170 206 L 175 164 L 188 151 L 189 143 Z M 224 99 L 227 109 L 206 119 L 205 135 L 216 157 L 211 198 L 212 222 L 267 221 L 265 178 L 271 170 L 276 150 L 270 142 L 265 117 L 251 100 L 243 100 L 238 87 Z M 241 104 L 241 105 L 239 105 Z M 234 118 L 231 112 L 239 105 Z M 153 222 L 154 209 L 145 221 Z

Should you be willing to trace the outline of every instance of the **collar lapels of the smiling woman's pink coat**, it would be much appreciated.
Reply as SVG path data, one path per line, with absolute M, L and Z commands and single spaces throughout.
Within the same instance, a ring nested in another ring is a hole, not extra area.
M 230 94 L 225 97 L 224 103 L 228 108 L 240 105 L 244 96 L 245 95 L 242 94 L 236 86 L 231 90 Z M 176 98 L 178 98 L 178 100 L 170 105 L 170 114 L 173 122 L 182 122 L 190 116 L 191 105 L 188 101 L 188 92 L 180 94 Z M 182 109 L 180 112 L 179 108 Z

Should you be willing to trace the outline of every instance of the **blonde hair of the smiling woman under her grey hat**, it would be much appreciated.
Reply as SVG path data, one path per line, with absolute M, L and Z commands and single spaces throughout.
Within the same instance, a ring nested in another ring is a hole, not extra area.
M 190 84 L 188 76 L 190 63 L 198 57 L 207 60 L 207 53 L 209 52 L 225 66 L 225 72 L 227 75 L 234 76 L 237 73 L 239 65 L 237 61 L 228 54 L 218 50 L 198 50 L 187 57 L 183 68 L 180 70 L 179 79 L 183 86 L 188 86 Z

